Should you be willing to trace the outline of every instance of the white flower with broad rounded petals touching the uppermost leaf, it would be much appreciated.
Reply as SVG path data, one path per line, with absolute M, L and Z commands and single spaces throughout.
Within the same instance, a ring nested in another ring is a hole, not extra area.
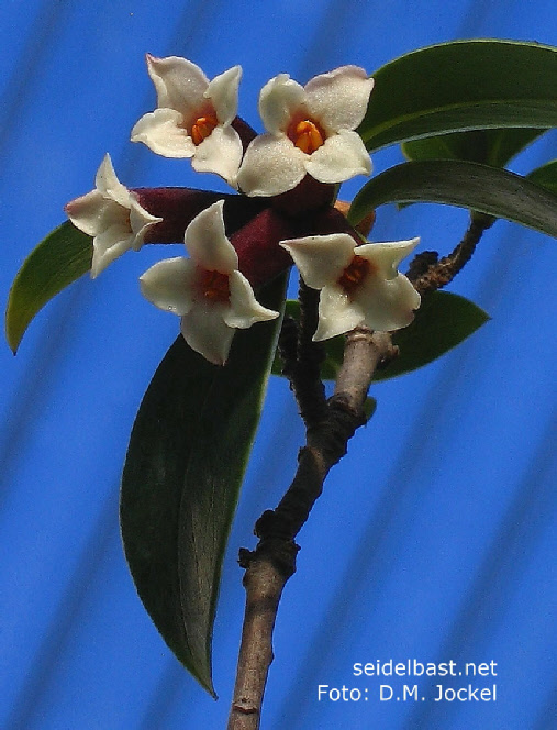
M 276 196 L 309 173 L 321 182 L 369 175 L 371 161 L 354 132 L 364 119 L 374 79 L 357 66 L 342 66 L 305 87 L 288 74 L 268 81 L 259 114 L 268 134 L 248 146 L 238 185 L 248 196 Z

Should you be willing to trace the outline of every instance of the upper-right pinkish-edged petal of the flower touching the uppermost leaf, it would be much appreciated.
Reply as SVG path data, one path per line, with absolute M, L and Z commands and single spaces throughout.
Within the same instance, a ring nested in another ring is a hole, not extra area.
M 372 88 L 374 79 L 363 68 L 341 66 L 308 81 L 308 109 L 328 134 L 355 130 L 366 114 Z

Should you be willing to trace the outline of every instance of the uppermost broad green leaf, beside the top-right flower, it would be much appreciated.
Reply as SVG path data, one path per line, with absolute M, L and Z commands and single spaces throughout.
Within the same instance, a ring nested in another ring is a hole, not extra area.
M 557 126 L 557 48 L 475 40 L 420 48 L 374 74 L 369 151 L 475 129 Z

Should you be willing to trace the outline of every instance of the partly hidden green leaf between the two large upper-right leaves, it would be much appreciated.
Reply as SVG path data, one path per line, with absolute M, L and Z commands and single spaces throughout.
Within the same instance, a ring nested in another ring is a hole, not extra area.
M 422 137 L 402 144 L 406 159 L 467 159 L 492 167 L 506 167 L 509 162 L 547 130 L 472 130 L 434 137 Z

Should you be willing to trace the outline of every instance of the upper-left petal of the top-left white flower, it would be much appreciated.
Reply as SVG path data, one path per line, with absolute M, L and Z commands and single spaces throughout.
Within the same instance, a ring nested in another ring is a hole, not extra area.
M 157 107 L 174 109 L 188 119 L 203 106 L 209 79 L 191 60 L 147 54 L 147 70 L 157 91 Z

